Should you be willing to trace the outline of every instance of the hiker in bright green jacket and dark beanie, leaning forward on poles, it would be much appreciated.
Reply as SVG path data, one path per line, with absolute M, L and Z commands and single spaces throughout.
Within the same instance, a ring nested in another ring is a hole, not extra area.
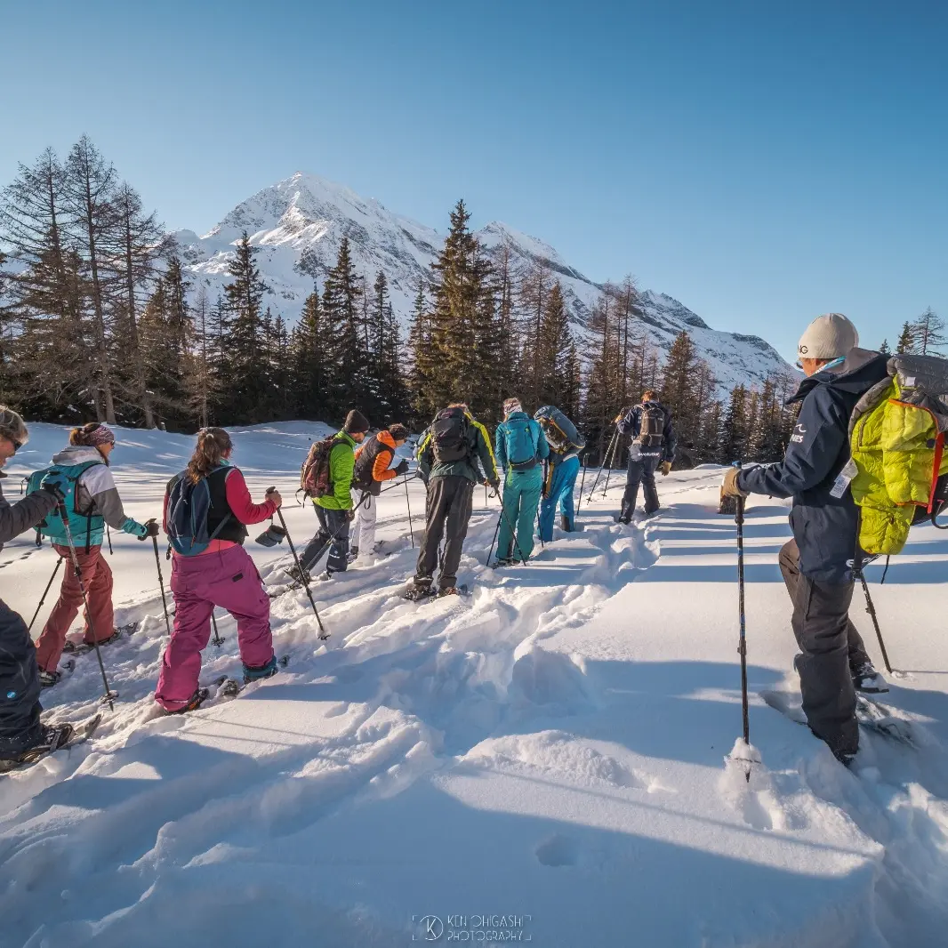
M 326 571 L 320 579 L 344 573 L 349 565 L 349 524 L 356 516 L 352 483 L 356 465 L 356 444 L 365 438 L 369 420 L 361 411 L 350 411 L 342 430 L 334 437 L 336 444 L 329 455 L 329 483 L 332 490 L 313 499 L 319 518 L 319 533 L 312 538 L 300 557 L 302 568 L 311 573 L 319 563 L 326 545 L 329 556 Z

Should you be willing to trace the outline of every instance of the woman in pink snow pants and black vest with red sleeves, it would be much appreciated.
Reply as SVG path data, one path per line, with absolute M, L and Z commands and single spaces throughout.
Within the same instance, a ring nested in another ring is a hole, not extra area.
M 207 697 L 207 692 L 198 688 L 198 676 L 215 606 L 226 609 L 237 620 L 244 680 L 268 678 L 277 670 L 270 633 L 270 600 L 243 543 L 247 536 L 245 524 L 272 517 L 283 500 L 274 490 L 263 503 L 254 503 L 244 475 L 228 463 L 232 450 L 230 436 L 223 428 L 202 428 L 191 461 L 168 484 L 165 494 L 164 529 L 170 536 L 169 499 L 175 485 L 185 481 L 194 485 L 193 497 L 204 480 L 210 494 L 205 524 L 207 548 L 190 556 L 179 554 L 177 549 L 173 554 L 174 630 L 155 688 L 155 701 L 170 714 L 192 711 Z

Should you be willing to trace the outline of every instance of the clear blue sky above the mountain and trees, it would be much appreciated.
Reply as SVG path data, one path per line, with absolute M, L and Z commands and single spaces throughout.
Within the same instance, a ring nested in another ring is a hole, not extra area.
M 432 227 L 464 197 L 793 356 L 948 317 L 936 3 L 4 5 L 0 182 L 88 134 L 170 228 L 295 171 Z

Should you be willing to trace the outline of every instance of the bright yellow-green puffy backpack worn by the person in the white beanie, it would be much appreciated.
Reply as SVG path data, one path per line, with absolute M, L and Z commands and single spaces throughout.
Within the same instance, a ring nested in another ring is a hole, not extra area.
M 893 356 L 887 369 L 853 410 L 852 463 L 840 475 L 844 490 L 852 479 L 870 556 L 900 553 L 912 524 L 934 522 L 948 498 L 948 359 Z

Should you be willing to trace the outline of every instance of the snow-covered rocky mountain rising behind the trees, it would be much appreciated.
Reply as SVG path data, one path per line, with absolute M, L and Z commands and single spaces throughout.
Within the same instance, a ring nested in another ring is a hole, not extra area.
M 360 197 L 312 174 L 296 173 L 241 202 L 203 237 L 191 230 L 176 232 L 192 281 L 205 283 L 212 296 L 228 280 L 228 259 L 244 230 L 260 250 L 257 263 L 270 287 L 264 304 L 291 324 L 299 319 L 314 280 L 321 285 L 326 270 L 336 262 L 343 235 L 352 246 L 356 271 L 370 285 L 378 270 L 385 272 L 392 305 L 407 324 L 419 283 L 430 276 L 429 264 L 444 242 L 443 234 L 393 213 L 374 198 Z M 577 322 L 588 314 L 600 287 L 567 264 L 552 246 L 496 221 L 477 235 L 494 255 L 509 246 L 515 271 L 533 262 L 546 264 L 562 284 Z M 738 382 L 759 385 L 768 374 L 788 368 L 763 339 L 711 329 L 665 294 L 647 290 L 642 302 L 642 319 L 653 344 L 667 352 L 672 340 L 687 329 L 722 390 Z

